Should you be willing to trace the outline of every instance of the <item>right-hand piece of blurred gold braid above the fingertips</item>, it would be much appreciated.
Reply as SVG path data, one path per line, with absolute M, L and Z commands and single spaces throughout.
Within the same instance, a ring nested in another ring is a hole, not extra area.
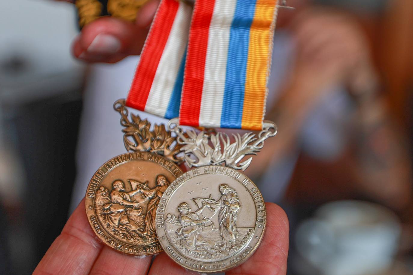
M 140 7 L 148 0 L 109 0 L 107 11 L 114 17 L 120 17 L 128 21 L 135 21 Z

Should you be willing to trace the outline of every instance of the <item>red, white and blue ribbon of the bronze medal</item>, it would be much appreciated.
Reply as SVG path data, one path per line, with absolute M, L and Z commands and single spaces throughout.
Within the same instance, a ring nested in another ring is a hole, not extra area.
M 192 7 L 162 0 L 140 55 L 126 106 L 164 118 L 179 115 Z

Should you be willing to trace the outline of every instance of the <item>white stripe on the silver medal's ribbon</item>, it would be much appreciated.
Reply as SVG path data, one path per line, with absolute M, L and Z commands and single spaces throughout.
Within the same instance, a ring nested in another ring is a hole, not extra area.
M 237 1 L 216 0 L 209 26 L 199 125 L 220 127 L 230 29 Z

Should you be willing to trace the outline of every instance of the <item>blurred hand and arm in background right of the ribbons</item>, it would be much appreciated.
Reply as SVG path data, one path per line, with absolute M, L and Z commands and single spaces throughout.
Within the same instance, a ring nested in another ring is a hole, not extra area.
M 327 110 L 326 104 L 337 102 L 334 98 L 337 98 L 337 87 L 341 87 L 342 97 L 351 101 L 349 106 L 353 107 L 344 108 L 340 114 L 348 118 L 351 126 L 338 134 L 345 136 L 339 142 L 345 140 L 348 144 L 340 145 L 344 149 L 327 161 L 329 165 L 343 167 L 342 174 L 335 174 L 333 179 L 345 175 L 351 184 L 345 186 L 344 193 L 402 209 L 411 200 L 411 162 L 405 150 L 406 138 L 397 129 L 380 95 L 366 36 L 351 15 L 329 7 L 305 5 L 305 2 L 288 12 L 289 16 L 283 14 L 280 18 L 279 26 L 286 29 L 295 47 L 291 62 L 294 64 L 281 80 L 278 99 L 266 116 L 277 123 L 280 131 L 275 139 L 266 141 L 266 148 L 272 150 L 263 150 L 254 157 L 247 174 L 260 177 L 277 165 L 282 167 L 283 159 L 291 152 L 300 151 L 303 139 L 309 138 L 303 136 L 303 129 L 314 127 L 309 124 L 309 118 L 315 122 L 311 117 L 317 109 Z M 334 118 L 325 118 L 329 112 L 321 111 L 321 114 L 323 121 L 318 117 L 316 123 L 337 123 Z M 320 140 L 325 135 L 328 133 L 323 129 L 316 134 Z M 323 148 L 328 150 L 328 144 Z M 314 185 L 323 189 L 322 184 Z M 343 189 L 337 188 L 335 192 L 343 193 Z

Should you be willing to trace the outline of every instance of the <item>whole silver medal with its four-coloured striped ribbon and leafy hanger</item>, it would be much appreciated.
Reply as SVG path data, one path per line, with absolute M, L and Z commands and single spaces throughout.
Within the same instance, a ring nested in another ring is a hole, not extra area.
M 164 251 L 190 270 L 234 268 L 263 238 L 262 195 L 240 170 L 277 132 L 263 121 L 277 8 L 276 0 L 195 1 L 179 119 L 168 124 L 192 169 L 169 185 L 155 218 Z

